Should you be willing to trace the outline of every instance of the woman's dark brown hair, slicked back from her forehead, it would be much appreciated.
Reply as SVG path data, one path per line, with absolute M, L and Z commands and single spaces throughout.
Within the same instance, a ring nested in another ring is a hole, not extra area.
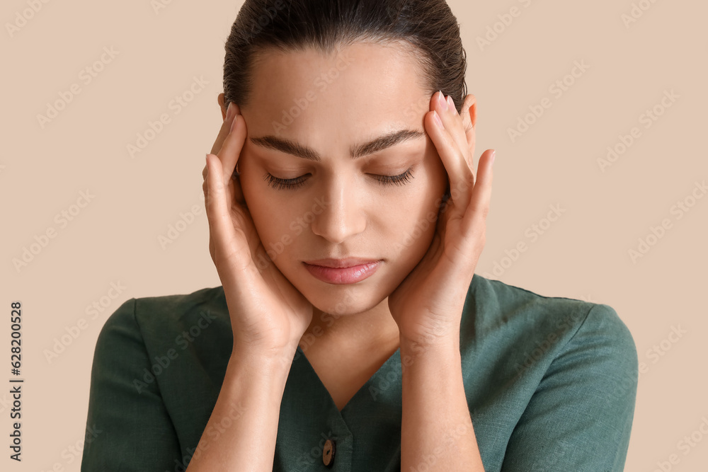
M 253 64 L 269 49 L 330 54 L 359 41 L 413 46 L 421 85 L 452 96 L 459 113 L 467 63 L 445 0 L 246 0 L 224 45 L 224 103 L 249 103 Z

